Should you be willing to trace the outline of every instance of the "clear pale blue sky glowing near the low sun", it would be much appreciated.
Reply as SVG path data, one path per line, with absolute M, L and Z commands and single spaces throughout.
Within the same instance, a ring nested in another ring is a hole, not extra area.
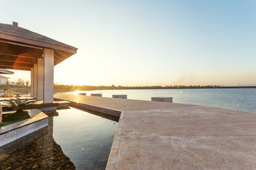
M 55 83 L 256 84 L 255 0 L 0 0 L 0 7 L 0 23 L 78 47 L 55 66 Z

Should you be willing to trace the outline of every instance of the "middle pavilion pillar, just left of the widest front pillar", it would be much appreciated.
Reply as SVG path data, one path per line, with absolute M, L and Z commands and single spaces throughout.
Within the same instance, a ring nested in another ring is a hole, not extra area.
M 43 74 L 44 74 L 44 64 L 43 59 L 38 59 L 38 86 L 37 86 L 37 100 L 43 100 Z

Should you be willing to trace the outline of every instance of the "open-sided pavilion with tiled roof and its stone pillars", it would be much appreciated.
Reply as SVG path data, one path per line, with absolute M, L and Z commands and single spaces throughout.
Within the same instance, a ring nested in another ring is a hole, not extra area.
M 53 68 L 77 52 L 66 45 L 31 30 L 0 23 L 0 69 L 31 72 L 31 97 L 53 103 Z

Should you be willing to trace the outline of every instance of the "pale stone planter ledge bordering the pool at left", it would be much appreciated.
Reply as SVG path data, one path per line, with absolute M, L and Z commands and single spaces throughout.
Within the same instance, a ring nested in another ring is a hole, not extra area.
M 0 147 L 48 125 L 48 115 L 38 109 L 28 110 L 31 118 L 0 128 Z

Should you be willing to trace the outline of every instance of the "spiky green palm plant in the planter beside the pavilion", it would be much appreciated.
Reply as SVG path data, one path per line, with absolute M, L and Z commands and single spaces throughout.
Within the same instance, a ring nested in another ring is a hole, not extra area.
M 23 113 L 23 109 L 27 109 L 33 101 L 28 101 L 28 98 L 21 100 L 21 98 L 16 98 L 13 101 L 8 101 L 9 108 L 15 108 L 16 113 Z

